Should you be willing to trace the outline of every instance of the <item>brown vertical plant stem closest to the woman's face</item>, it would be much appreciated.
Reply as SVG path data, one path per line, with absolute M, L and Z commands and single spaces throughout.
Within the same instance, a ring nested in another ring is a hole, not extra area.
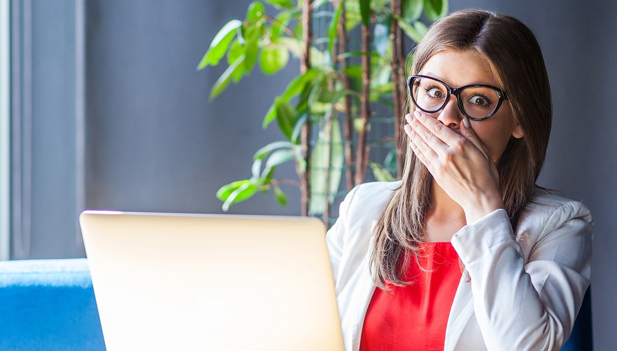
M 402 1 L 392 0 L 390 5 L 393 15 L 402 16 Z M 396 173 L 397 178 L 403 175 L 403 165 L 407 147 L 404 147 L 402 140 L 403 127 L 403 109 L 405 106 L 405 91 L 401 88 L 405 85 L 405 68 L 403 62 L 403 35 L 399 27 L 399 21 L 395 16 L 392 16 L 392 25 L 390 27 L 390 38 L 392 39 L 392 102 L 394 102 L 394 148 L 396 151 Z

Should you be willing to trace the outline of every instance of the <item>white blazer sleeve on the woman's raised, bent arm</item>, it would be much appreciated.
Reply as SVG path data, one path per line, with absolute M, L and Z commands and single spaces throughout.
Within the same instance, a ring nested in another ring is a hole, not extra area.
M 544 222 L 527 259 L 505 210 L 452 238 L 488 350 L 559 350 L 573 328 L 590 281 L 592 221 L 584 205 L 566 202 Z

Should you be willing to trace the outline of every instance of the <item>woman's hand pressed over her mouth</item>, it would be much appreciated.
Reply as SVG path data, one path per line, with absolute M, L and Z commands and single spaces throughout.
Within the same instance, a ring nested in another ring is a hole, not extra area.
M 467 223 L 503 209 L 497 168 L 467 118 L 460 123 L 460 134 L 418 110 L 405 119 L 413 152 L 446 194 L 463 207 Z

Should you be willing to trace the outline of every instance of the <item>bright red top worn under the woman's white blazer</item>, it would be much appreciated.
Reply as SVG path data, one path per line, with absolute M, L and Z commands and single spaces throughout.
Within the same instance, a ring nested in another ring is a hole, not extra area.
M 360 351 L 444 350 L 445 327 L 461 279 L 450 242 L 426 242 L 411 259 L 407 286 L 376 289 L 366 310 Z

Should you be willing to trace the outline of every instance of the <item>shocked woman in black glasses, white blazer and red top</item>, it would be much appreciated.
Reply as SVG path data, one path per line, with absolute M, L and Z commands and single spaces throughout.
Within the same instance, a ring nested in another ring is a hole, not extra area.
M 328 232 L 346 350 L 558 350 L 592 220 L 534 186 L 552 106 L 536 38 L 463 10 L 415 52 L 402 181 L 356 187 Z

